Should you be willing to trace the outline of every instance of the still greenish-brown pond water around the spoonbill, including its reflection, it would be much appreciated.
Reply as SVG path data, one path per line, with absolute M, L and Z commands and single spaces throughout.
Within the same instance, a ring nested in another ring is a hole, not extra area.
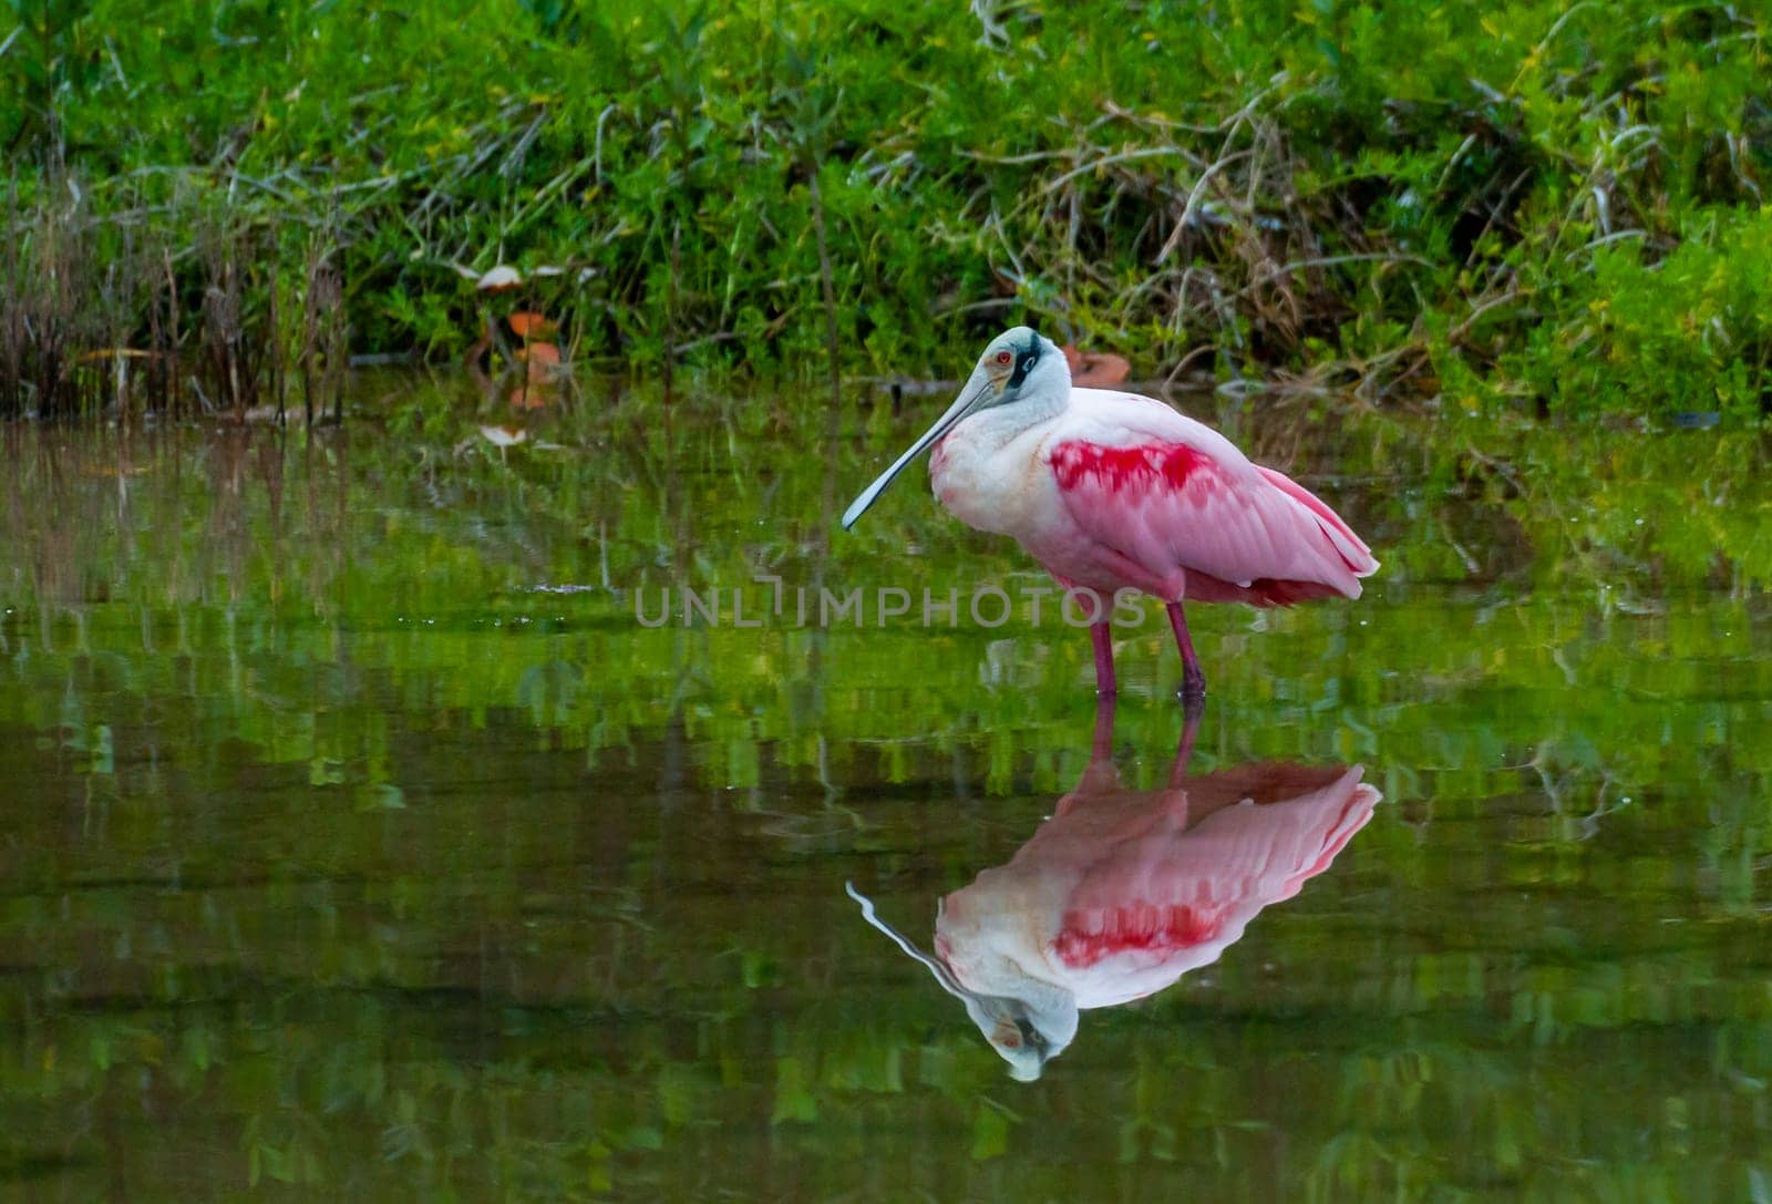
M 1187 403 L 1386 562 L 1187 729 L 913 404 L 452 390 L 0 433 L 9 1197 L 1772 1199 L 1753 436 Z

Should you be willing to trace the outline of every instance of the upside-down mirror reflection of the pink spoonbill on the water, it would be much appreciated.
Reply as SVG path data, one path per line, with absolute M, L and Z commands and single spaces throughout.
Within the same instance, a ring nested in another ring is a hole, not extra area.
M 966 1005 L 1014 1078 L 1031 1082 L 1063 1053 L 1081 1009 L 1145 998 L 1217 961 L 1372 819 L 1380 796 L 1361 766 L 1255 762 L 1185 777 L 1196 725 L 1198 715 L 1164 789 L 1127 791 L 1104 702 L 1083 780 L 1006 865 L 937 904 L 934 954 L 845 883 L 868 924 Z

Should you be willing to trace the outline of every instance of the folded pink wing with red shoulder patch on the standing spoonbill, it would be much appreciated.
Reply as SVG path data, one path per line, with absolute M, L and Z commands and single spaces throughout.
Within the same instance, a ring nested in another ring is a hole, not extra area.
M 1267 606 L 1359 598 L 1359 578 L 1379 567 L 1304 486 L 1148 397 L 1095 394 L 1047 459 L 1090 539 L 1159 578 L 1184 569 L 1187 598 Z

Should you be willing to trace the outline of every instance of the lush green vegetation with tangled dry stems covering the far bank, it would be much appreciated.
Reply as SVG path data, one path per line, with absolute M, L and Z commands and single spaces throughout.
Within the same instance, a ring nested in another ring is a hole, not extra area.
M 1143 376 L 1469 410 L 1758 415 L 1772 388 L 1747 5 L 60 12 L 7 50 L 25 160 L 186 261 L 202 215 L 255 231 L 260 309 L 330 222 L 358 351 L 455 355 L 459 270 L 514 262 L 620 367 L 810 376 L 835 314 L 849 372 L 953 374 L 1031 319 Z

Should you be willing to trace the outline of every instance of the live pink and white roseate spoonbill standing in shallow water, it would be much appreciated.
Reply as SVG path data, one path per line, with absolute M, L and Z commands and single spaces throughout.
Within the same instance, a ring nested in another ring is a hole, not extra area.
M 1205 674 L 1182 603 L 1290 606 L 1359 598 L 1379 562 L 1310 489 L 1154 397 L 1074 388 L 1063 353 L 1017 326 L 991 340 L 948 411 L 843 512 L 854 527 L 905 465 L 936 449 L 936 498 L 978 530 L 1014 536 L 1067 590 L 1092 590 L 1095 688 L 1115 693 L 1111 596 L 1161 598 L 1182 653 L 1182 695 Z

